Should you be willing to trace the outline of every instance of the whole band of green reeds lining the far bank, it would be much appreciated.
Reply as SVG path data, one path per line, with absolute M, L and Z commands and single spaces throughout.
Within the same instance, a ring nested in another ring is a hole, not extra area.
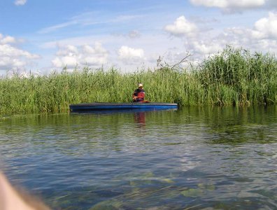
M 82 102 L 131 102 L 137 83 L 143 83 L 145 99 L 152 102 L 180 106 L 276 104 L 277 59 L 227 47 L 189 70 L 165 64 L 134 73 L 88 67 L 45 76 L 13 73 L 0 78 L 0 112 L 59 112 Z

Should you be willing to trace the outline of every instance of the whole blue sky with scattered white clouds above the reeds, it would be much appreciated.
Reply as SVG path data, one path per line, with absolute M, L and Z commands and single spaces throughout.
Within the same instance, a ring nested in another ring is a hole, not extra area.
M 197 64 L 226 45 L 275 55 L 277 1 L 0 1 L 0 73 Z

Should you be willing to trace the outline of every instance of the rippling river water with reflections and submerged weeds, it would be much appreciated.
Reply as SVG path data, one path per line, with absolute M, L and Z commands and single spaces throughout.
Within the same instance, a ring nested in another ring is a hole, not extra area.
M 1 116 L 0 167 L 52 209 L 277 209 L 277 107 Z

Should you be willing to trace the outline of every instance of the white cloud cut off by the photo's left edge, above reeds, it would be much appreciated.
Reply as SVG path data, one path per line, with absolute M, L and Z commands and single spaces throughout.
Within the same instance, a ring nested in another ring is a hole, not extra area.
M 12 36 L 3 36 L 0 34 L 0 69 L 8 70 L 14 68 L 23 68 L 31 64 L 39 56 L 13 46 L 17 40 Z

